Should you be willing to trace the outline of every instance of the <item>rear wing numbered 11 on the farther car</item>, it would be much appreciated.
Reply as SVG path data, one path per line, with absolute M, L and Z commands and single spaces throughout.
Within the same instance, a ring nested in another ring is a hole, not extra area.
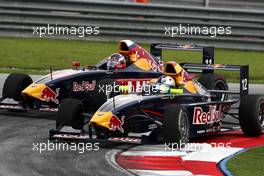
M 197 46 L 197 45 L 178 45 L 178 44 L 162 44 L 153 43 L 150 45 L 150 53 L 162 60 L 162 50 L 187 50 L 187 51 L 202 51 L 203 64 L 214 64 L 214 47 L 213 46 Z

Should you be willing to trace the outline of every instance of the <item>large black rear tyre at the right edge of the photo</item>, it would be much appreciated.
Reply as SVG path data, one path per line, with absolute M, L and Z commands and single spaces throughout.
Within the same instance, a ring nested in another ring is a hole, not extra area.
M 246 95 L 240 101 L 239 123 L 247 136 L 262 134 L 264 127 L 264 96 Z

